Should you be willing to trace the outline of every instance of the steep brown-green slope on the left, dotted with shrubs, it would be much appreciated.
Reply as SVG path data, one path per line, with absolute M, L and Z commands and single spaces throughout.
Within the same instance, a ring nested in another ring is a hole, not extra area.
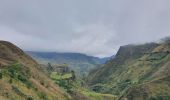
M 0 99 L 69 99 L 39 68 L 20 48 L 0 41 Z

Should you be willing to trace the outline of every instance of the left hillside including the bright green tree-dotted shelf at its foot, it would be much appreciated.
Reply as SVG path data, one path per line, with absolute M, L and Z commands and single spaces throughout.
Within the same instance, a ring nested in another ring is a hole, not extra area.
M 55 68 L 55 69 L 53 69 Z M 66 64 L 39 65 L 12 43 L 0 41 L 0 100 L 114 100 L 86 89 Z

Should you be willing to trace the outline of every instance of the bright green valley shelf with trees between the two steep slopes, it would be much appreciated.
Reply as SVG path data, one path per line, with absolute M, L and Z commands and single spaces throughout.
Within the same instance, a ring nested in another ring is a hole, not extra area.
M 96 93 L 88 89 L 86 81 L 77 77 L 75 72 L 66 64 L 43 65 L 41 67 L 45 73 L 66 91 L 73 100 L 116 100 L 116 96 L 111 94 Z

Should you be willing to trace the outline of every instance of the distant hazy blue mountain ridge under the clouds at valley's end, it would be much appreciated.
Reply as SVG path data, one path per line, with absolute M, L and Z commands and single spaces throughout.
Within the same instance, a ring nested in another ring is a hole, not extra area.
M 68 66 L 77 72 L 78 75 L 87 75 L 88 72 L 104 64 L 110 57 L 98 58 L 87 56 L 80 53 L 56 53 L 56 52 L 33 52 L 27 51 L 28 55 L 36 59 L 41 64 L 68 64 Z

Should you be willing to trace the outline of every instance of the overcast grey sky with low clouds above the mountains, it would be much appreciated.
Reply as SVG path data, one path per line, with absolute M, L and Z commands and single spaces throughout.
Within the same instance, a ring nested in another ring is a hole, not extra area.
M 0 39 L 24 50 L 110 56 L 170 35 L 170 0 L 0 0 Z

